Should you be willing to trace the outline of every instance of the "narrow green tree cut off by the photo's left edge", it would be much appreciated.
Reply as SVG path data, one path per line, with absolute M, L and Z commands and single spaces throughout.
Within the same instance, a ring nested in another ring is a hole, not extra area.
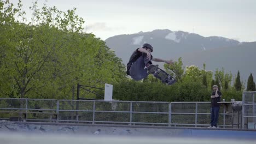
M 19 95 L 18 86 L 15 85 L 14 77 L 11 75 L 13 71 L 8 69 L 12 67 L 6 61 L 7 57 L 14 55 L 9 49 L 13 47 L 14 44 L 10 40 L 15 39 L 16 31 L 15 29 L 19 27 L 19 23 L 15 20 L 15 16 L 18 18 L 24 14 L 21 11 L 22 4 L 18 2 L 18 8 L 14 8 L 14 4 L 9 3 L 9 1 L 0 1 L 0 96 L 3 94 L 11 98 L 17 97 Z

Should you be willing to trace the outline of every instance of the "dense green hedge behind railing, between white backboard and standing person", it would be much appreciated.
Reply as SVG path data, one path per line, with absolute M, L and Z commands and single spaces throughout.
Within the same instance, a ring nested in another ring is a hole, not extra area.
M 183 80 L 166 86 L 161 82 L 125 80 L 113 86 L 113 98 L 133 101 L 209 101 L 211 91 L 200 81 Z

